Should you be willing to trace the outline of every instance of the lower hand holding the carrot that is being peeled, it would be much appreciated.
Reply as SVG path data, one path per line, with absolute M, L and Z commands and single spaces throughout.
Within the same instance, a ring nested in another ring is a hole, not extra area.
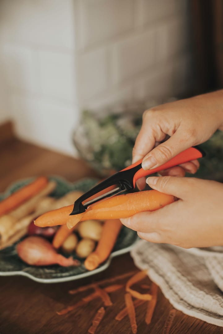
M 151 176 L 147 183 L 179 200 L 156 211 L 120 219 L 125 226 L 150 242 L 184 248 L 223 245 L 223 184 L 173 176 Z

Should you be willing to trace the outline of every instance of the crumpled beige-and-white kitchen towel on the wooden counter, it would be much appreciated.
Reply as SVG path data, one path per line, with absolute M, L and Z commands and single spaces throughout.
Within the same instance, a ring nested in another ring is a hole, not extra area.
M 223 327 L 223 247 L 184 249 L 139 240 L 131 256 L 176 309 Z

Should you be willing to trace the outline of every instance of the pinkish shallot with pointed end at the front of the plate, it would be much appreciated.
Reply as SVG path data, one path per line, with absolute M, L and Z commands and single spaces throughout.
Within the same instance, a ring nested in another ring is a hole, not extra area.
M 17 245 L 18 256 L 31 266 L 59 264 L 63 267 L 78 266 L 78 260 L 58 254 L 51 243 L 39 236 L 28 236 Z

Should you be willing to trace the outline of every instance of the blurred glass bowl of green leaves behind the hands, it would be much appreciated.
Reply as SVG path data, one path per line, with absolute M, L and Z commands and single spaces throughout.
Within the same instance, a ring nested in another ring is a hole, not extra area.
M 129 166 L 135 139 L 142 125 L 142 114 L 157 104 L 138 103 L 97 112 L 84 110 L 73 133 L 73 143 L 80 157 L 105 177 Z M 200 159 L 196 177 L 223 181 L 222 143 L 223 132 L 217 131 L 200 145 L 206 157 Z

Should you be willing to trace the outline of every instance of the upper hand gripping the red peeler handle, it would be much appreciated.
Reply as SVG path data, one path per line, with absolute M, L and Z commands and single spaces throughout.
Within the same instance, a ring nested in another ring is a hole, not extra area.
M 143 159 L 143 169 L 158 167 L 205 142 L 218 128 L 223 130 L 223 90 L 149 109 L 143 114 L 132 163 Z M 185 171 L 194 174 L 198 168 L 199 162 L 194 160 L 160 174 L 184 176 Z M 143 189 L 145 181 L 138 180 L 137 185 Z

